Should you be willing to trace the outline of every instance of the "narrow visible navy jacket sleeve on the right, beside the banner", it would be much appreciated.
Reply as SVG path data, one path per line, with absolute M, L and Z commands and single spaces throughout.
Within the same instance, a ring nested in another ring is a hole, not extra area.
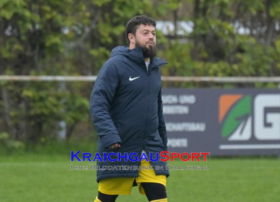
M 158 96 L 158 117 L 159 117 L 159 133 L 163 141 L 164 145 L 164 151 L 167 151 L 167 131 L 166 131 L 166 125 L 164 121 L 163 116 L 163 102 L 162 102 L 162 90 L 160 90 L 159 96 Z

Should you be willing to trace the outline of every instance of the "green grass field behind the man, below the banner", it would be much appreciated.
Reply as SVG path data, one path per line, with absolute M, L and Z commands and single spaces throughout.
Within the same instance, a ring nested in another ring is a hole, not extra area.
M 0 156 L 0 202 L 93 202 L 97 194 L 95 171 L 70 171 L 67 156 Z M 209 166 L 207 171 L 170 171 L 168 202 L 278 202 L 280 159 L 208 158 L 207 162 L 168 162 Z M 132 195 L 117 202 L 145 202 Z

